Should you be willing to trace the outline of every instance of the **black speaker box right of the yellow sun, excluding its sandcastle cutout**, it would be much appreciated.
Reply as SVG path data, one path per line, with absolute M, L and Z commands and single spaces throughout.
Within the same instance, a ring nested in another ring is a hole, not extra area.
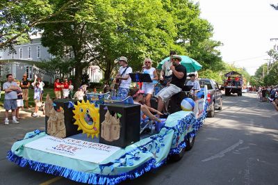
M 120 117 L 120 137 L 115 140 L 106 140 L 101 137 L 101 122 L 105 120 L 106 112 Z M 138 104 L 102 104 L 99 107 L 99 143 L 126 147 L 140 140 L 140 105 Z

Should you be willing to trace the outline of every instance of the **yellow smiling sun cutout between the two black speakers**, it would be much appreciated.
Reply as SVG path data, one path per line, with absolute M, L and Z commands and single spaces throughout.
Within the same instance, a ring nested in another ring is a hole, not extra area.
M 89 137 L 92 135 L 92 138 L 96 136 L 99 137 L 99 108 L 95 108 L 95 104 L 90 104 L 89 101 L 77 102 L 77 105 L 74 105 L 75 110 L 74 119 L 76 120 L 74 124 L 77 124 L 79 127 L 77 130 L 82 130 L 83 134 L 87 134 Z

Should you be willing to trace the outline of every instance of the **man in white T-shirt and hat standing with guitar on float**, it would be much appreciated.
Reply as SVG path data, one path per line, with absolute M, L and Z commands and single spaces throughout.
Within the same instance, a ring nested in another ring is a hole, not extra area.
M 121 56 L 118 61 L 121 66 L 117 77 L 115 77 L 117 80 L 120 80 L 118 95 L 125 98 L 129 94 L 129 86 L 131 84 L 129 73 L 132 73 L 132 69 L 127 65 L 127 58 L 125 56 Z

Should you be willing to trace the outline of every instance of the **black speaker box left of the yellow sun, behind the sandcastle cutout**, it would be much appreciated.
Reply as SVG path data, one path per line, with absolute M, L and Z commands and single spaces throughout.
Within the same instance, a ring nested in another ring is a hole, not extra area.
M 74 113 L 72 109 L 74 107 L 69 108 L 69 102 L 73 104 L 77 104 L 78 100 L 76 99 L 56 99 L 54 100 L 54 109 L 57 111 L 58 108 L 62 107 L 64 109 L 64 116 L 65 116 L 65 129 L 66 129 L 66 137 L 73 136 L 76 134 L 80 134 L 82 131 L 77 131 L 78 125 L 74 124 L 75 120 L 73 118 Z M 47 132 L 47 120 L 49 119 L 48 116 L 45 116 L 45 131 Z

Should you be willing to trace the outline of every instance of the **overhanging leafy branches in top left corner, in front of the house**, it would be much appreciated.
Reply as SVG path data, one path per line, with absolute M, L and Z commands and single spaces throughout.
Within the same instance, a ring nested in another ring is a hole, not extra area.
M 15 52 L 13 45 L 27 42 L 29 34 L 37 32 L 37 26 L 41 24 L 72 22 L 72 19 L 53 18 L 67 15 L 67 10 L 78 4 L 79 1 L 74 0 L 0 0 L 0 49 L 10 48 Z

